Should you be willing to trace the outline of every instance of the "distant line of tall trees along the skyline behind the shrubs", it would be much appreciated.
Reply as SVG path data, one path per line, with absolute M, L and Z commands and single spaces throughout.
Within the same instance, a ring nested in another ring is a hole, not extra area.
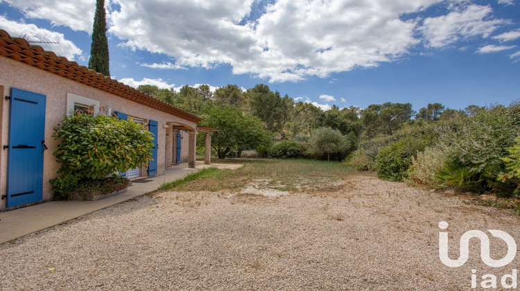
M 405 126 L 428 123 L 453 117 L 458 111 L 446 109 L 440 103 L 428 104 L 415 112 L 410 103 L 372 104 L 365 109 L 350 106 L 340 109 L 333 105 L 323 111 L 312 103 L 295 101 L 287 94 L 281 96 L 268 85 L 259 84 L 250 89 L 237 85 L 219 87 L 212 92 L 209 85 L 180 89 L 159 89 L 154 85 L 140 85 L 139 91 L 159 98 L 193 114 L 207 118 L 212 105 L 231 106 L 243 114 L 261 120 L 263 129 L 280 136 L 282 140 L 298 135 L 310 136 L 320 127 L 331 127 L 344 135 L 354 135 L 358 142 L 377 136 L 392 135 Z M 471 111 L 471 107 L 467 109 Z

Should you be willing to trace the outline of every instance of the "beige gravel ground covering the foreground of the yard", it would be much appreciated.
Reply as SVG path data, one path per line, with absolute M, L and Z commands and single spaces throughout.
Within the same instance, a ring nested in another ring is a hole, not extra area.
M 0 245 L 1 290 L 471 290 L 487 267 L 443 265 L 470 229 L 520 243 L 519 218 L 459 197 L 356 175 L 337 191 L 279 197 L 231 193 L 143 196 Z M 492 258 L 507 252 L 491 239 Z

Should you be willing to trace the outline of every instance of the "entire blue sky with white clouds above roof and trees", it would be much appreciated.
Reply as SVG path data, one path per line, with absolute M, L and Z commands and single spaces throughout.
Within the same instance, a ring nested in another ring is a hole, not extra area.
M 87 66 L 96 0 L 0 0 L 0 28 Z M 327 110 L 520 99 L 520 0 L 105 0 L 112 78 Z

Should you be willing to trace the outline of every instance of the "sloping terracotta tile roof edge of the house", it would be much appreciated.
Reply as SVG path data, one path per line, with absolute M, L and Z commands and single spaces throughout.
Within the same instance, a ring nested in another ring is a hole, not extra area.
M 24 62 L 37 69 L 75 80 L 90 87 L 101 89 L 116 96 L 133 100 L 142 105 L 187 119 L 188 121 L 199 123 L 202 120 L 202 118 L 194 114 L 164 103 L 157 98 L 144 94 L 117 80 L 112 80 L 112 78 L 108 76 L 103 76 L 102 73 L 97 73 L 85 66 L 80 66 L 77 62 L 69 62 L 67 58 L 58 57 L 52 51 L 44 51 L 41 46 L 31 46 L 26 39 L 10 37 L 6 30 L 1 29 L 0 55 L 11 58 L 12 60 Z

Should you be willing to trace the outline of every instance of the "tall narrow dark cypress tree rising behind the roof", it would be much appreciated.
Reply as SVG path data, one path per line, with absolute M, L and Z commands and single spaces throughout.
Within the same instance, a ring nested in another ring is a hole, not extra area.
M 92 30 L 92 45 L 90 47 L 89 69 L 93 69 L 105 76 L 110 76 L 107 20 L 105 18 L 105 0 L 96 0 L 96 14 Z

